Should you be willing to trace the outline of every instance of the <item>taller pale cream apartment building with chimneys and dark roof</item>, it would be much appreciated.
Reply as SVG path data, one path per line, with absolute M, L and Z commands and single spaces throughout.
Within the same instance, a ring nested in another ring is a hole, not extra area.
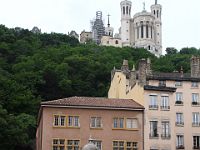
M 135 99 L 145 107 L 145 150 L 200 149 L 200 57 L 191 58 L 191 73 L 155 73 L 150 60 L 138 70 L 111 72 L 109 98 Z

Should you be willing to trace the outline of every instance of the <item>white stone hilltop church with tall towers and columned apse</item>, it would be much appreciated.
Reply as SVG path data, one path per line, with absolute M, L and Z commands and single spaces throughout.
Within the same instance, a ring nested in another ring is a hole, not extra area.
M 157 3 L 151 5 L 151 12 L 144 9 L 131 17 L 132 2 L 121 1 L 121 27 L 119 33 L 113 37 L 114 28 L 105 28 L 105 36 L 101 38 L 101 45 L 116 47 L 143 47 L 157 57 L 162 55 L 162 6 Z

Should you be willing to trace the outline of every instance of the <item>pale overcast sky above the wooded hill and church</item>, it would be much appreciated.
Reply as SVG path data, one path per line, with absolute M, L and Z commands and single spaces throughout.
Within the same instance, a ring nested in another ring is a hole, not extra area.
M 132 16 L 146 10 L 155 0 L 132 0 Z M 0 24 L 9 28 L 41 28 L 42 32 L 67 34 L 75 30 L 90 31 L 96 11 L 103 12 L 107 24 L 118 32 L 121 0 L 0 0 Z M 162 5 L 163 52 L 166 47 L 200 48 L 200 0 L 158 0 Z

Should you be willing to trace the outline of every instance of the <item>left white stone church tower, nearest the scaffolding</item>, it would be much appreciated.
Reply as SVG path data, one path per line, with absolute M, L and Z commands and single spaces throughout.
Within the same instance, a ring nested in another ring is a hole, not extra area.
M 130 46 L 130 21 L 132 2 L 124 0 L 121 5 L 121 40 L 123 46 Z

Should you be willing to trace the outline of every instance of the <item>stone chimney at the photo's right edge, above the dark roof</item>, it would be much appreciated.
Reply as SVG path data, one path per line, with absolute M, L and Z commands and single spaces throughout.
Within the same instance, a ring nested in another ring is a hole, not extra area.
M 190 59 L 191 77 L 200 78 L 200 57 L 192 56 Z

